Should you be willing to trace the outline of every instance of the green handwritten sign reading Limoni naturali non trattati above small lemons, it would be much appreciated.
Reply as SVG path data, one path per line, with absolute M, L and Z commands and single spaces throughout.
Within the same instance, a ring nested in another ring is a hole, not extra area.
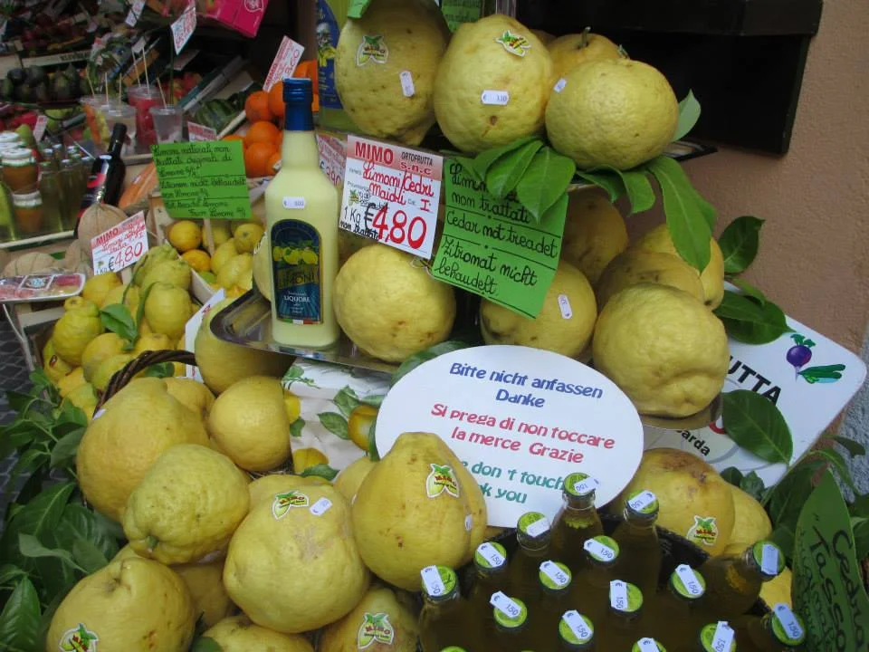
M 174 219 L 246 219 L 251 197 L 239 141 L 164 143 L 152 149 L 160 194 Z

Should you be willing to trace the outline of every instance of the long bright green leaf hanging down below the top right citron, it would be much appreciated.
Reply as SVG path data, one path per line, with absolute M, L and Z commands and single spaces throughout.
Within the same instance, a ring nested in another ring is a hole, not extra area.
M 673 245 L 682 259 L 701 272 L 711 256 L 712 229 L 694 198 L 688 177 L 673 158 L 659 156 L 646 163 L 664 196 L 664 214 Z

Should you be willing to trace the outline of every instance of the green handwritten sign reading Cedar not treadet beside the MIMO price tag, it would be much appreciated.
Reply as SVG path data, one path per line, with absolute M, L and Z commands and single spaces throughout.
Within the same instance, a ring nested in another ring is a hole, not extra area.
M 538 224 L 511 193 L 497 199 L 462 164 L 444 166 L 444 235 L 432 275 L 534 318 L 555 277 L 568 197 Z

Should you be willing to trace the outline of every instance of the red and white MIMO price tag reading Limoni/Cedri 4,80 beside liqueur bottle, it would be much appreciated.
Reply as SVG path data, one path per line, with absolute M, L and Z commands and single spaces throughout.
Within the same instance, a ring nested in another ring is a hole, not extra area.
M 431 258 L 443 168 L 432 152 L 349 136 L 339 226 Z

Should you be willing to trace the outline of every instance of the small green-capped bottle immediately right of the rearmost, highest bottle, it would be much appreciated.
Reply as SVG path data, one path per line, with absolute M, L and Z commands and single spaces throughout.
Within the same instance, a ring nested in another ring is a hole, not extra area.
M 661 543 L 654 527 L 658 518 L 657 497 L 646 489 L 630 494 L 624 516 L 625 520 L 613 532 L 622 554 L 618 576 L 638 586 L 644 595 L 654 595 L 661 573 Z

